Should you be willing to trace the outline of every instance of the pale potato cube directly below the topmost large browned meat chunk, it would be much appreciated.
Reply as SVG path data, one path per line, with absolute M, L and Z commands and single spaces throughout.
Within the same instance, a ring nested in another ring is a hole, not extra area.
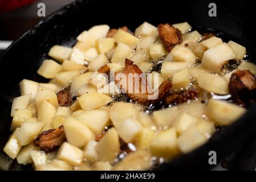
M 174 61 L 195 61 L 196 56 L 194 53 L 186 47 L 180 47 L 172 51 Z

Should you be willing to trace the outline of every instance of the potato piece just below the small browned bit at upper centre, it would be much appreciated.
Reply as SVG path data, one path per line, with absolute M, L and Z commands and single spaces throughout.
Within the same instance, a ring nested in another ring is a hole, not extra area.
M 116 32 L 114 39 L 116 43 L 123 43 L 128 46 L 137 46 L 139 44 L 139 39 L 136 36 L 121 30 L 121 28 Z

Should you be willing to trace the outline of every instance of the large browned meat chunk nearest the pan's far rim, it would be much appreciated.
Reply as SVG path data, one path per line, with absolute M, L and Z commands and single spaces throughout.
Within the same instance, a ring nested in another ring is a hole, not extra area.
M 169 23 L 159 24 L 157 28 L 160 39 L 169 52 L 172 51 L 174 46 L 182 43 L 181 31 L 178 28 L 173 27 Z

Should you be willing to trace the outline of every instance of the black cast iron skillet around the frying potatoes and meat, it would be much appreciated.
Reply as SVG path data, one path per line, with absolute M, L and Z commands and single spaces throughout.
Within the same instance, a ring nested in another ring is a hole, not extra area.
M 208 15 L 210 2 L 217 5 L 217 17 Z M 2 169 L 28 169 L 7 158 L 2 152 L 2 147 L 10 135 L 11 101 L 19 96 L 18 84 L 23 78 L 47 81 L 39 77 L 36 70 L 42 60 L 47 58 L 51 46 L 60 44 L 71 47 L 80 32 L 96 24 L 109 24 L 111 27 L 128 26 L 135 30 L 144 21 L 155 25 L 187 21 L 192 26 L 211 27 L 225 32 L 231 40 L 245 46 L 250 57 L 256 57 L 255 33 L 252 28 L 253 12 L 254 6 L 250 1 L 76 1 L 48 16 L 0 56 L 0 164 L 5 164 L 2 165 Z M 254 133 L 255 109 L 256 103 L 249 107 L 242 118 L 218 131 L 204 146 L 172 162 L 161 164 L 156 169 L 213 167 L 208 163 L 209 151 L 217 152 L 219 162 Z

